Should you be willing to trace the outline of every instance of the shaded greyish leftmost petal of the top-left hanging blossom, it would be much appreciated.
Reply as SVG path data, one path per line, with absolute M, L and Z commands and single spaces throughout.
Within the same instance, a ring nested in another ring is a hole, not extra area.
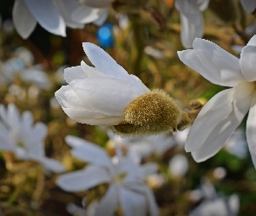
M 13 24 L 19 35 L 27 39 L 36 28 L 36 20 L 24 0 L 16 0 L 12 10 Z

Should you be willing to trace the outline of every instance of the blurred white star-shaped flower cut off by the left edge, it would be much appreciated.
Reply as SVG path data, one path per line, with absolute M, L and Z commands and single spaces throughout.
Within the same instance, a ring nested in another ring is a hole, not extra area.
M 20 160 L 39 162 L 47 171 L 62 172 L 64 167 L 60 162 L 44 155 L 46 133 L 45 124 L 33 125 L 30 111 L 20 115 L 14 104 L 8 105 L 7 109 L 0 105 L 0 149 L 12 152 Z

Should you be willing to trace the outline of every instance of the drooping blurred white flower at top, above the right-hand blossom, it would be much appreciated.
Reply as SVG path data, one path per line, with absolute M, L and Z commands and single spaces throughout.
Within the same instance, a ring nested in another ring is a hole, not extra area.
M 203 10 L 210 0 L 176 0 L 175 8 L 181 16 L 181 43 L 184 48 L 192 48 L 196 37 L 201 37 L 204 30 Z

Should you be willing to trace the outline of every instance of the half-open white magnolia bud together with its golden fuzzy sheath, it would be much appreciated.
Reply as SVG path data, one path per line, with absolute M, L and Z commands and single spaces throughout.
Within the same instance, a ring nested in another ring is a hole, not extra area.
M 65 69 L 68 86 L 56 98 L 69 118 L 92 125 L 114 125 L 122 135 L 174 133 L 183 117 L 181 106 L 166 92 L 150 91 L 129 75 L 102 48 L 82 44 L 95 67 L 85 62 Z M 187 113 L 185 113 L 187 114 Z M 184 115 L 185 116 L 185 115 Z

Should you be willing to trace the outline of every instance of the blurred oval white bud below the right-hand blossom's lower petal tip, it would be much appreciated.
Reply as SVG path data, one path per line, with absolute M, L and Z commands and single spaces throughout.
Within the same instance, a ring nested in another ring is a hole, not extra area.
M 187 174 L 188 160 L 186 156 L 177 154 L 169 161 L 169 171 L 174 177 L 182 177 Z

